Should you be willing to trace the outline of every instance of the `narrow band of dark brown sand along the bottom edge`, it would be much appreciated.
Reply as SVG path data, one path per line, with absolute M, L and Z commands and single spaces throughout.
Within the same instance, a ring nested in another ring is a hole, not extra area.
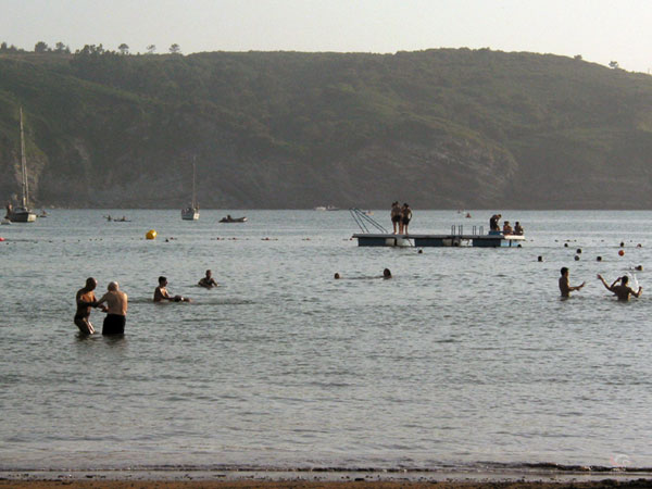
M 62 486 L 88 489 L 580 489 L 580 488 L 648 488 L 652 479 L 592 481 L 399 481 L 399 480 L 0 480 L 0 488 L 50 489 Z

